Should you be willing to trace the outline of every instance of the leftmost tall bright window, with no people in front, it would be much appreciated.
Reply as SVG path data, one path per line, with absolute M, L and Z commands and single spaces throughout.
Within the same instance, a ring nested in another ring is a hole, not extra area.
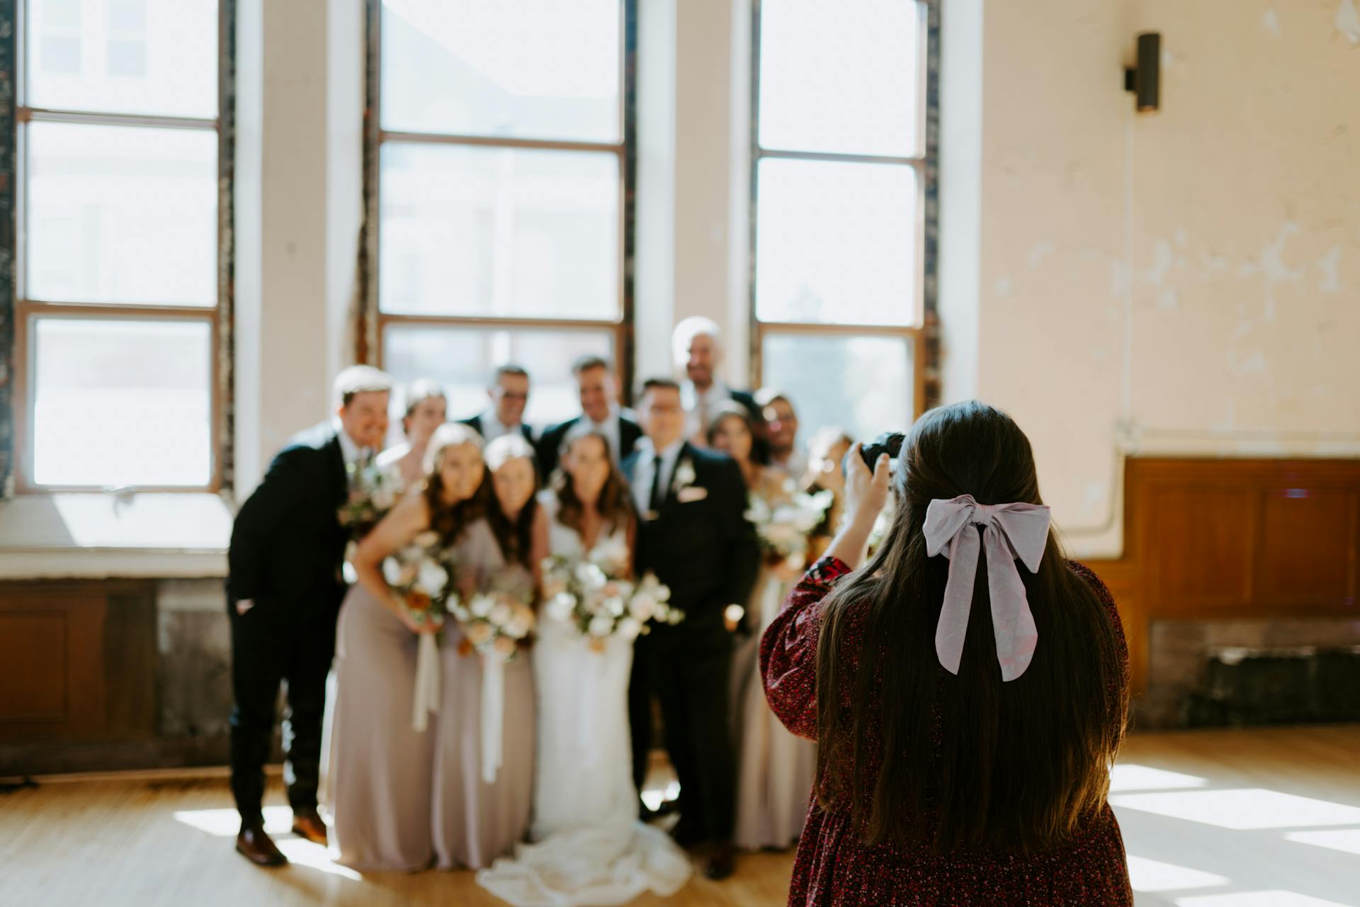
M 20 488 L 220 476 L 216 0 L 20 0 Z

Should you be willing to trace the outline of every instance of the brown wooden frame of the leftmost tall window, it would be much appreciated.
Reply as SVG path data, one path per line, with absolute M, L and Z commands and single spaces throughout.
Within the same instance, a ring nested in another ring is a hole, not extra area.
M 11 171 L 5 199 L 0 209 L 8 207 L 8 233 L 14 269 L 12 284 L 3 294 L 0 305 L 10 307 L 12 345 L 0 352 L 10 354 L 10 373 L 14 393 L 0 398 L 0 417 L 8 415 L 12 424 L 8 458 L 0 439 L 0 487 L 15 494 L 61 494 L 109 491 L 103 484 L 38 484 L 34 479 L 37 453 L 33 431 L 37 408 L 35 349 L 38 318 L 87 318 L 129 321 L 196 321 L 209 329 L 209 442 L 208 481 L 201 485 L 136 485 L 148 492 L 227 492 L 233 481 L 233 182 L 235 154 L 235 0 L 218 0 L 218 116 L 175 117 L 124 113 L 91 113 L 82 110 L 34 107 L 27 103 L 29 29 L 24 15 L 31 0 L 11 0 L 12 37 L 8 63 L 10 84 L 14 86 L 12 122 L 0 122 L 0 141 L 5 143 L 5 156 Z M 34 299 L 27 294 L 26 243 L 29 233 L 27 171 L 29 125 L 33 122 L 65 122 L 76 125 L 148 126 L 214 132 L 218 139 L 218 224 L 216 224 L 216 294 L 212 305 L 155 305 L 121 302 L 69 302 Z M 0 333 L 4 318 L 0 317 Z M 8 469 L 7 469 L 8 468 Z

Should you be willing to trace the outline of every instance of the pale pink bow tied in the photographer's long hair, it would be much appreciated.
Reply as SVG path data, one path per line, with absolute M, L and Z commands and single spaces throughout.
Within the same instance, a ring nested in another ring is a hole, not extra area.
M 991 596 L 991 627 L 997 638 L 1001 680 L 1015 680 L 1030 666 L 1039 631 L 1030 613 L 1016 560 L 1039 572 L 1049 544 L 1049 509 L 1038 504 L 979 504 L 972 495 L 932 500 L 926 509 L 926 553 L 949 559 L 949 581 L 936 624 L 936 654 L 951 674 L 959 673 L 963 638 L 972 609 L 972 581 L 978 575 L 978 533 L 987 548 L 987 592 Z

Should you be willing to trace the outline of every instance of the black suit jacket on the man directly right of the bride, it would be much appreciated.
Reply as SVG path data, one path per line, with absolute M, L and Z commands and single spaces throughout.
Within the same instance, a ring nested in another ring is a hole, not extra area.
M 639 451 L 623 464 L 632 480 Z M 681 465 L 694 469 L 694 488 L 681 491 Z M 700 496 L 702 495 L 702 496 Z M 687 500 L 688 499 L 688 500 Z M 760 551 L 745 518 L 747 484 L 728 457 L 685 443 L 676 458 L 665 503 L 656 519 L 638 522 L 638 574 L 649 570 L 670 586 L 670 602 L 685 612 L 680 631 L 721 631 L 728 605 L 747 605 Z M 669 628 L 658 627 L 661 632 Z

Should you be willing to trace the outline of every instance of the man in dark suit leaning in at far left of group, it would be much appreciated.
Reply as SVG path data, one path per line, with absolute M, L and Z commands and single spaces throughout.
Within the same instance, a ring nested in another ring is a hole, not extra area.
M 241 812 L 237 851 L 261 866 L 288 862 L 264 832 L 261 813 L 264 763 L 284 681 L 292 831 L 326 840 L 317 783 L 326 674 L 344 600 L 345 530 L 337 514 L 348 498 L 350 469 L 371 458 L 388 432 L 390 389 L 388 375 L 369 366 L 340 373 L 335 417 L 279 451 L 231 528 L 231 793 Z

